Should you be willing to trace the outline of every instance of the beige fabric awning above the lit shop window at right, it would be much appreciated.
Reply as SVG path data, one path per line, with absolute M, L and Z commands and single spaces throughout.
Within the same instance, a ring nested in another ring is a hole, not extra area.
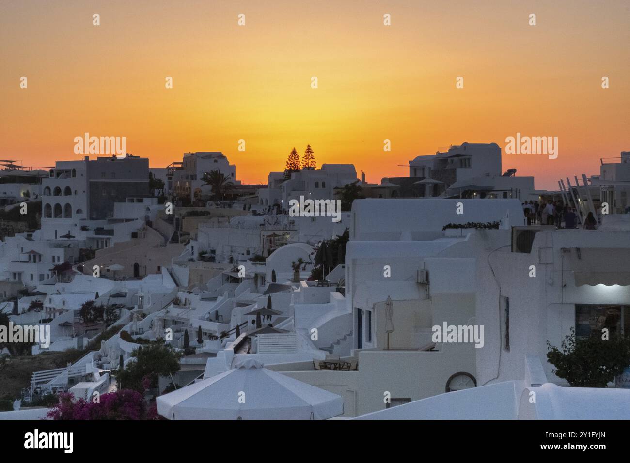
M 571 248 L 575 285 L 630 285 L 629 248 Z

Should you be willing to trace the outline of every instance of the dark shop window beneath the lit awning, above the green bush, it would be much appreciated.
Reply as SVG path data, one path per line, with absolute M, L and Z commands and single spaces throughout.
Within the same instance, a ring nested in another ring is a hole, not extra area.
M 630 334 L 630 306 L 595 306 L 576 304 L 575 336 L 587 338 L 593 333 Z

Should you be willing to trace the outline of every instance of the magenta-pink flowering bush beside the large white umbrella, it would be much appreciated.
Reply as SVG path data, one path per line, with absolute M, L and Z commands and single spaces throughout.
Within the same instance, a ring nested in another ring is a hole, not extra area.
M 59 404 L 49 410 L 47 417 L 52 420 L 154 420 L 157 418 L 157 412 L 147 406 L 142 394 L 129 389 L 102 394 L 98 403 L 85 399 L 73 400 L 73 398 L 71 393 L 60 394 Z

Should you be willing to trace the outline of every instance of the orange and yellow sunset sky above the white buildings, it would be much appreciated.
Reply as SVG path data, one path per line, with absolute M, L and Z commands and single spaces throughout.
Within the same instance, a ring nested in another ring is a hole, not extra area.
M 558 159 L 504 152 L 503 170 L 557 189 L 630 150 L 629 23 L 627 0 L 0 0 L 0 157 L 80 159 L 72 140 L 89 132 L 126 136 L 152 167 L 222 151 L 266 183 L 311 144 L 318 166 L 380 181 L 521 132 L 557 136 Z

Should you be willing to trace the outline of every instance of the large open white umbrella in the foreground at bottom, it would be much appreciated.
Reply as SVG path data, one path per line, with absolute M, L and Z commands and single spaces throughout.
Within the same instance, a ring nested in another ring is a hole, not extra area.
M 341 396 L 253 358 L 156 401 L 157 412 L 169 420 L 326 420 L 343 413 Z

